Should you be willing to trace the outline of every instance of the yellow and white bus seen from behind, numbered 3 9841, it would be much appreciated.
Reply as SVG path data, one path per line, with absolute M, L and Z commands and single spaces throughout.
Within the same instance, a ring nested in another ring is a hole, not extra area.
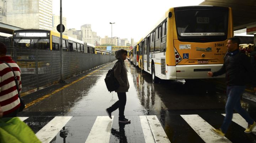
M 222 67 L 227 39 L 233 35 L 229 7 L 170 8 L 137 44 L 143 55 L 140 67 L 152 75 L 153 82 L 209 78 L 208 71 Z

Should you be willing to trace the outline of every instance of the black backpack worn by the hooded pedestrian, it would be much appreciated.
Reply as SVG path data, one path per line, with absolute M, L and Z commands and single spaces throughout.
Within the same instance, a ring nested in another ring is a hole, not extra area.
M 106 78 L 104 80 L 105 80 L 107 89 L 110 92 L 117 90 L 117 88 L 119 87 L 119 82 L 114 77 L 114 69 L 113 68 L 108 70 L 108 73 L 107 73 Z

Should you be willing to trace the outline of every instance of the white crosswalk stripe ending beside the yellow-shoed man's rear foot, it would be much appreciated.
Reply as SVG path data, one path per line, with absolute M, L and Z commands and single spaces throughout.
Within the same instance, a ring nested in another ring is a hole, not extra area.
M 231 143 L 226 137 L 215 135 L 210 129 L 213 128 L 199 115 L 181 115 L 181 117 L 190 125 L 193 130 L 206 143 Z

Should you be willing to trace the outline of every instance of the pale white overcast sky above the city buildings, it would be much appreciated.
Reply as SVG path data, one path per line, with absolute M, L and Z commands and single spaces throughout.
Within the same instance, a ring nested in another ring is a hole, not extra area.
M 112 36 L 138 41 L 164 16 L 170 7 L 198 5 L 204 0 L 62 0 L 66 29 L 91 24 L 104 38 Z M 60 0 L 52 0 L 53 14 L 60 14 Z

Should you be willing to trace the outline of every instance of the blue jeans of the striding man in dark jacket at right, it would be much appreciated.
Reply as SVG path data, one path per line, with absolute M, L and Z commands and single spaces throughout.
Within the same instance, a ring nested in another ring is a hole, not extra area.
M 250 115 L 241 107 L 240 99 L 244 90 L 245 86 L 227 86 L 226 92 L 228 95 L 228 100 L 225 106 L 226 116 L 221 126 L 223 133 L 226 133 L 228 131 L 228 127 L 233 118 L 233 110 L 240 114 L 242 118 L 244 118 L 248 122 L 248 124 L 252 125 L 254 123 L 254 120 L 250 117 Z

